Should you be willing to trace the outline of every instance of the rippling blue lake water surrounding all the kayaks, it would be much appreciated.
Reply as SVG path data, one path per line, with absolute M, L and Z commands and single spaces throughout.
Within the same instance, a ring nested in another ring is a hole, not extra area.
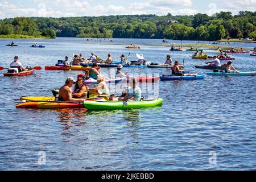
M 85 57 L 93 51 L 114 60 L 130 52 L 142 53 L 146 60 L 163 63 L 166 55 L 180 60 L 190 72 L 206 73 L 193 65 L 189 51 L 169 51 L 162 40 L 14 40 L 18 47 L 6 47 L 11 40 L 0 40 L 1 67 L 9 67 L 19 56 L 23 65 L 43 67 L 26 77 L 3 77 L 0 71 L 0 169 L 1 170 L 255 170 L 256 169 L 256 77 L 205 76 L 195 81 L 159 81 L 154 95 L 163 105 L 150 109 L 86 111 L 86 109 L 16 109 L 11 102 L 20 96 L 51 96 L 68 76 L 81 71 L 45 71 L 73 52 Z M 29 48 L 38 42 L 46 48 Z M 125 49 L 128 44 L 142 49 Z M 183 41 L 183 43 L 197 43 Z M 144 45 L 144 46 L 143 46 Z M 169 45 L 169 46 L 167 46 Z M 237 43 L 252 48 L 256 44 Z M 213 56 L 213 50 L 205 51 Z M 240 71 L 256 71 L 256 59 L 234 54 L 233 65 Z M 222 62 L 224 63 L 224 62 Z M 170 73 L 169 69 L 124 68 L 127 73 Z M 101 68 L 109 75 L 108 68 Z M 147 95 L 147 94 L 145 94 Z M 152 97 L 152 96 L 150 96 Z M 46 164 L 39 164 L 40 154 Z M 209 155 L 213 154 L 213 155 Z M 215 155 L 216 154 L 216 155 Z M 211 157 L 215 157 L 213 163 Z M 216 162 L 216 163 L 215 163 Z

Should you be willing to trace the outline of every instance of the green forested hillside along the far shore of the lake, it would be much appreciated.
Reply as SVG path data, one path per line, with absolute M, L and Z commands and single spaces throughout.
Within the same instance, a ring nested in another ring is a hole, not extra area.
M 220 40 L 256 38 L 256 12 L 240 11 L 214 16 L 116 15 L 68 18 L 15 18 L 0 20 L 0 34 L 84 38 L 154 38 Z

